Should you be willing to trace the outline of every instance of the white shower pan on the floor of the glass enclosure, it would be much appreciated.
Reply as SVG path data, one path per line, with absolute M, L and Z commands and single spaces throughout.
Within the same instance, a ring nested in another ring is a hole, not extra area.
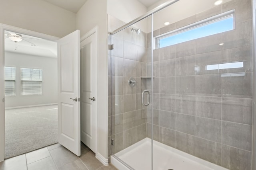
M 153 142 L 153 155 L 154 170 L 228 170 L 158 141 Z M 151 170 L 151 139 L 142 139 L 111 156 L 111 163 L 116 168 L 130 170 L 118 158 L 135 170 Z

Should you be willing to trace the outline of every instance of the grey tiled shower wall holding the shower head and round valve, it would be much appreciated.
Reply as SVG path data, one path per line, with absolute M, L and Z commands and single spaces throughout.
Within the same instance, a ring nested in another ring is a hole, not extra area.
M 108 16 L 108 23 L 118 23 Z M 142 106 L 141 93 L 146 90 L 146 33 L 137 35 L 128 27 L 109 37 L 108 69 L 108 153 L 112 153 L 146 137 L 146 107 Z M 134 27 L 133 27 L 134 28 Z M 128 80 L 135 78 L 136 86 L 130 87 Z

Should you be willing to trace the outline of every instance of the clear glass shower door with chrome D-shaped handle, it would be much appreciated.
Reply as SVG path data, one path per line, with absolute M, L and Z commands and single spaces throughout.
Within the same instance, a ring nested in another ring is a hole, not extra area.
M 109 17 L 112 23 L 120 22 Z M 147 119 L 152 92 L 149 86 L 151 49 L 148 48 L 151 41 L 147 33 L 150 18 L 109 39 L 114 47 L 109 54 L 109 143 L 112 155 L 131 169 L 151 169 L 151 141 L 148 138 L 151 127 Z M 141 152 L 146 155 L 143 159 Z

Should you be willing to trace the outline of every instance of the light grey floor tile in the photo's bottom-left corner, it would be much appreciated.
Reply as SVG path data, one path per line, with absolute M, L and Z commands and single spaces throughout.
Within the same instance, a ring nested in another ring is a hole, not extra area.
M 27 170 L 25 154 L 0 162 L 0 170 Z

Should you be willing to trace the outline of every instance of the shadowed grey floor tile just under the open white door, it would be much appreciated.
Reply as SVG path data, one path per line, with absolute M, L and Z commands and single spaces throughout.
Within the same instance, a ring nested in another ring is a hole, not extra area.
M 50 153 L 58 168 L 78 159 L 78 156 L 64 147 L 50 150 Z

